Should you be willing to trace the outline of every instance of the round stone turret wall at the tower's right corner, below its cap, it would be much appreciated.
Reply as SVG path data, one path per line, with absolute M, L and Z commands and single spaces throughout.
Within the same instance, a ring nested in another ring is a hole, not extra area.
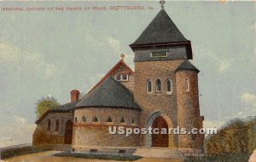
M 202 127 L 202 118 L 199 110 L 198 97 L 198 78 L 197 72 L 191 70 L 177 71 L 177 126 L 186 128 L 200 129 Z M 202 148 L 202 136 L 197 135 L 179 135 L 179 148 Z

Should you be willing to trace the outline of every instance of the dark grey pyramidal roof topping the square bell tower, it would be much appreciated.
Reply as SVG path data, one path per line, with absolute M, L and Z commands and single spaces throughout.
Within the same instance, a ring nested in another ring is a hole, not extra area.
M 188 40 L 177 29 L 166 11 L 161 9 L 137 40 L 131 43 L 130 47 L 172 42 L 188 42 Z

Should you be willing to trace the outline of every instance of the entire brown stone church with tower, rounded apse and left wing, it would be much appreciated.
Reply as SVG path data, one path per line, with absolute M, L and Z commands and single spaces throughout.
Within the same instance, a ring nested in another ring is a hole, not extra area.
M 191 43 L 163 7 L 130 44 L 134 70 L 120 59 L 87 94 L 71 91 L 71 101 L 49 109 L 37 121 L 33 145 L 75 152 L 127 153 L 131 148 L 169 148 L 202 153 L 201 134 L 110 134 L 125 128 L 202 128 L 199 70 Z

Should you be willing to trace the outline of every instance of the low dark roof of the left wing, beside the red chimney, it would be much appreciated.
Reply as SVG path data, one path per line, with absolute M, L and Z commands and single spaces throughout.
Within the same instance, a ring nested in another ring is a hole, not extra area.
M 62 104 L 60 107 L 56 109 L 48 109 L 47 111 L 44 112 L 43 115 L 40 116 L 38 120 L 36 120 L 36 124 L 40 123 L 44 118 L 49 115 L 49 113 L 67 113 L 67 112 L 72 112 L 74 110 L 74 107 L 77 103 L 81 101 L 80 99 L 76 102 L 70 102 L 66 104 Z

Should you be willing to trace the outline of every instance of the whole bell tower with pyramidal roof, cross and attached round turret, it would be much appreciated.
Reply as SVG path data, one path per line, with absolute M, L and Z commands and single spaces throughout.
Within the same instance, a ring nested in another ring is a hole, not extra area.
M 193 59 L 191 43 L 166 13 L 164 3 L 160 1 L 160 12 L 130 44 L 135 53 L 134 98 L 143 109 L 142 127 L 152 126 L 161 117 L 168 128 L 201 128 L 199 70 L 189 63 L 189 59 Z M 169 135 L 167 147 L 201 148 L 202 139 L 201 136 Z M 161 146 L 155 142 L 154 137 L 142 135 L 141 146 Z

